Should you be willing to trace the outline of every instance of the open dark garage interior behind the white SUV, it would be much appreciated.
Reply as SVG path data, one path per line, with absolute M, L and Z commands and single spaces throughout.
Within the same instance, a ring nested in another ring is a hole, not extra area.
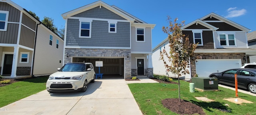
M 102 61 L 103 67 L 95 66 L 95 61 Z M 124 79 L 123 57 L 72 57 L 72 62 L 91 62 L 95 73 L 103 73 L 102 79 Z

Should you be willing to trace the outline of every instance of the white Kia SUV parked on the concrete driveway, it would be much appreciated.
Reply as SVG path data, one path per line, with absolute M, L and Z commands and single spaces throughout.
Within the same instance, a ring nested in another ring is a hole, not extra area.
M 92 63 L 66 63 L 58 72 L 49 76 L 46 82 L 48 92 L 85 92 L 87 83 L 95 81 Z

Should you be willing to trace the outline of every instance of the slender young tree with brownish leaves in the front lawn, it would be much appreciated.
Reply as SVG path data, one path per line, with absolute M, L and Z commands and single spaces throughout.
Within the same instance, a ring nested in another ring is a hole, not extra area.
M 166 52 L 164 49 L 160 52 L 160 59 L 164 61 L 167 71 L 171 71 L 178 75 L 178 93 L 180 100 L 180 76 L 181 74 L 186 75 L 189 73 L 186 67 L 189 64 L 190 57 L 194 54 L 197 45 L 191 44 L 188 40 L 188 36 L 182 34 L 181 27 L 184 26 L 185 21 L 178 24 L 176 22 L 178 18 L 174 19 L 174 22 L 172 22 L 170 16 L 168 16 L 167 20 L 169 21 L 169 26 L 163 26 L 162 30 L 164 33 L 168 34 L 170 52 Z M 168 60 L 165 60 L 164 56 L 166 56 Z M 168 65 L 166 61 L 171 62 L 171 64 Z

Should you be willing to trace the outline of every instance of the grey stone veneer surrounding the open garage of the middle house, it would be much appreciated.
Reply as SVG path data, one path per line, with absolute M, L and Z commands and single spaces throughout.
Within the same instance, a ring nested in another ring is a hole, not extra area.
M 125 79 L 130 79 L 131 72 L 131 50 L 130 49 L 85 49 L 85 48 L 65 48 L 64 63 L 71 62 L 72 57 L 124 57 Z M 127 57 L 129 55 L 130 57 Z M 95 65 L 94 65 L 95 66 Z

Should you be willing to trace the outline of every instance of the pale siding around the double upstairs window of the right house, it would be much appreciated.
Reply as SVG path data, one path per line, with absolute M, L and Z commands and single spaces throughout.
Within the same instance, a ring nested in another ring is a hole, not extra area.
M 219 41 L 219 32 L 214 32 L 214 40 L 216 48 L 228 48 L 228 46 L 220 46 Z M 225 33 L 225 32 L 222 32 Z M 247 40 L 246 40 L 246 33 L 245 32 L 234 32 L 234 36 L 236 39 L 236 46 L 229 46 L 229 47 L 237 47 L 237 48 L 247 48 Z

